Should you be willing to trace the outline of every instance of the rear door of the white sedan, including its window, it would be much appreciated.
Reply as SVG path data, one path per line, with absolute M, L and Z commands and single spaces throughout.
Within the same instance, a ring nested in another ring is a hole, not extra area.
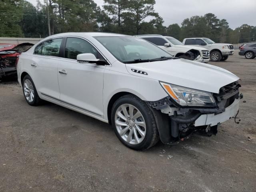
M 50 39 L 39 44 L 34 51 L 30 72 L 39 94 L 60 98 L 58 62 L 63 38 Z

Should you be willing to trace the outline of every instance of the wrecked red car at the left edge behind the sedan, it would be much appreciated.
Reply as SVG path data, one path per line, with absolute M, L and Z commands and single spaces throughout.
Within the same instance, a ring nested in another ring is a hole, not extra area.
M 34 44 L 6 44 L 0 43 L 0 78 L 16 74 L 16 67 L 18 63 L 18 56 L 29 50 Z

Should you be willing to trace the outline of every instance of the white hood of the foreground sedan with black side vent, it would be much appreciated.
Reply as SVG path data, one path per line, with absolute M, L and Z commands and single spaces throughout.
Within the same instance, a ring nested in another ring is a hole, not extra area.
M 126 64 L 126 69 L 135 76 L 212 93 L 218 93 L 222 86 L 239 80 L 223 68 L 185 59 Z M 147 75 L 133 72 L 132 69 L 146 72 Z

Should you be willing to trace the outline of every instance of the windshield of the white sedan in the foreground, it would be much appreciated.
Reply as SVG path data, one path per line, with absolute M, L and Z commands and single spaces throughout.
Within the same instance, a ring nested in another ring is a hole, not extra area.
M 158 46 L 136 37 L 130 36 L 96 36 L 98 40 L 119 61 L 152 60 L 171 57 Z

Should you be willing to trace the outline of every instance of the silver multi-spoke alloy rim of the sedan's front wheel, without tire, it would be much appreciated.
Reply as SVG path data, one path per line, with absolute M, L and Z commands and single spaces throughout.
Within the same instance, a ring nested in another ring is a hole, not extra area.
M 122 104 L 115 114 L 118 134 L 129 144 L 139 144 L 146 136 L 146 122 L 142 113 L 131 104 Z

